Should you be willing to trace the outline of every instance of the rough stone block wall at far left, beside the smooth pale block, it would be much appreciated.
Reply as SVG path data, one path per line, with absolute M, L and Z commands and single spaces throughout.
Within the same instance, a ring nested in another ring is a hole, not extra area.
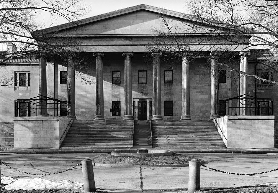
M 14 123 L 0 123 L 0 149 L 12 149 L 14 147 Z

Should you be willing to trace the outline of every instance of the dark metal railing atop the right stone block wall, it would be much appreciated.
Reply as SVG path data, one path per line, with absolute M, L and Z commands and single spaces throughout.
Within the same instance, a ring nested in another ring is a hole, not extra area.
M 256 98 L 247 93 L 220 101 L 214 106 L 214 116 L 237 116 L 243 111 L 247 115 L 273 115 L 273 99 Z

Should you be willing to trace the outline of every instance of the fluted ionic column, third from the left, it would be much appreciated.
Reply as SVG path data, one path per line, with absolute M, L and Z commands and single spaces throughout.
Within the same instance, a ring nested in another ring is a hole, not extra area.
M 103 52 L 94 53 L 96 57 L 96 116 L 94 120 L 105 120 L 103 110 Z

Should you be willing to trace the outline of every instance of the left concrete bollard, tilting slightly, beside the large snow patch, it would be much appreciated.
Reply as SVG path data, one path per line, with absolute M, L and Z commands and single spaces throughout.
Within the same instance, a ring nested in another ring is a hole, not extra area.
M 84 191 L 85 192 L 96 192 L 92 160 L 86 158 L 83 161 L 81 161 L 81 164 L 82 164 Z

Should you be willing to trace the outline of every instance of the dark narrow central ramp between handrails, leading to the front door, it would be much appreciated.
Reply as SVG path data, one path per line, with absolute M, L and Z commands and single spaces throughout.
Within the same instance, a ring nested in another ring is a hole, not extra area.
M 133 147 L 151 147 L 151 123 L 149 120 L 134 120 Z

